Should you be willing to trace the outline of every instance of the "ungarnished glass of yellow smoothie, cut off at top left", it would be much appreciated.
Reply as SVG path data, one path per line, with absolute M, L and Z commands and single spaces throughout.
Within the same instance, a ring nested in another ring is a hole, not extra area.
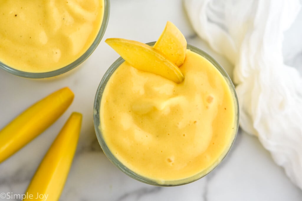
M 109 0 L 0 1 L 0 68 L 27 78 L 63 74 L 101 41 Z

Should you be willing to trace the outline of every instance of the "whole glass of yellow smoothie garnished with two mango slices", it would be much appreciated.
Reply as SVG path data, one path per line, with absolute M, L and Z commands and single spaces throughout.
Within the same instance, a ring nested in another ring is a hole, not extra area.
M 158 44 L 106 40 L 126 61 L 120 57 L 110 66 L 94 103 L 95 131 L 108 159 L 130 177 L 157 186 L 187 184 L 217 167 L 239 119 L 226 71 L 201 49 L 177 42 L 181 33 L 169 26 Z

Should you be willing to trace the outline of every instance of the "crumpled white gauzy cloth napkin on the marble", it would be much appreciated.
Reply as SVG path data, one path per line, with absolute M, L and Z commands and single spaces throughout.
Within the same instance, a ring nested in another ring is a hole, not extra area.
M 234 64 L 240 127 L 302 189 L 302 79 L 284 65 L 283 32 L 299 0 L 184 0 L 194 30 Z

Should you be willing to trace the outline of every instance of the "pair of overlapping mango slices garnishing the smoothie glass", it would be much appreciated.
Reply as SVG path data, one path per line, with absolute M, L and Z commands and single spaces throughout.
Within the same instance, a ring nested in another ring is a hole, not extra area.
M 109 38 L 105 42 L 140 71 L 160 75 L 175 83 L 184 80 L 178 67 L 185 61 L 187 41 L 172 22 L 167 22 L 154 47 L 121 38 Z

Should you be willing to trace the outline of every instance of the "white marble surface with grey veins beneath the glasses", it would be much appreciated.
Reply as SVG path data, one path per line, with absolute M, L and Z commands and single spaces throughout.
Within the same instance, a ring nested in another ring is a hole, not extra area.
M 275 165 L 257 138 L 241 130 L 230 153 L 218 168 L 191 184 L 154 187 L 133 180 L 115 168 L 98 145 L 92 119 L 98 84 L 107 68 L 118 57 L 104 43 L 105 38 L 155 41 L 166 21 L 170 20 L 183 32 L 188 43 L 204 49 L 229 73 L 233 67 L 195 35 L 181 0 L 111 0 L 110 12 L 108 28 L 98 48 L 82 66 L 66 75 L 31 80 L 0 70 L 0 128 L 25 108 L 63 86 L 69 86 L 75 93 L 72 105 L 55 124 L 0 164 L 0 193 L 24 193 L 43 155 L 68 116 L 72 111 L 79 111 L 83 114 L 81 136 L 60 200 L 302 200 L 302 190 L 295 187 L 283 169 Z M 285 63 L 298 68 L 300 73 L 301 36 L 302 11 L 285 33 L 283 48 Z

